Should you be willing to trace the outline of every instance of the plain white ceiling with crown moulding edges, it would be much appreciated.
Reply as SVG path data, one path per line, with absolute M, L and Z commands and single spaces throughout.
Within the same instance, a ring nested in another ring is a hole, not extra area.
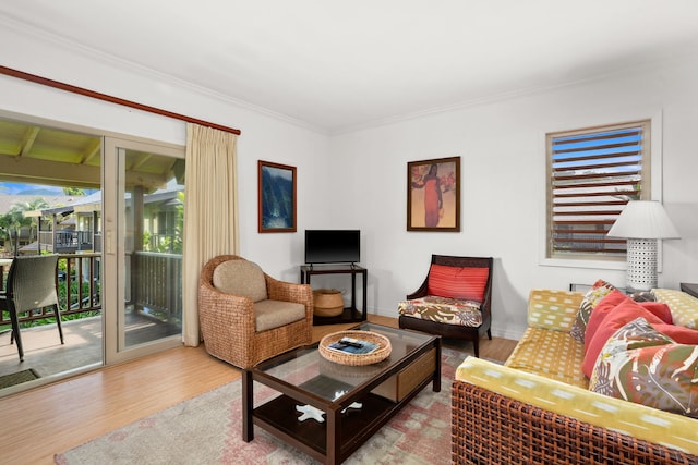
M 327 132 L 698 51 L 696 0 L 22 0 L 2 17 Z

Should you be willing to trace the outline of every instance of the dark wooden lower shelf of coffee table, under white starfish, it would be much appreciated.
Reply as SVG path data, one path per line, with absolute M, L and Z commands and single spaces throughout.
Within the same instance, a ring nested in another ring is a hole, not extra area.
M 297 405 L 299 405 L 298 401 L 287 395 L 279 395 L 254 409 L 253 423 L 324 462 L 327 456 L 327 421 L 318 423 L 312 418 L 299 421 L 300 414 L 296 411 Z M 400 407 L 400 403 L 369 394 L 363 397 L 360 409 L 349 409 L 339 414 L 341 415 L 339 421 L 341 448 L 338 453 L 340 461 L 346 460 L 359 449 Z

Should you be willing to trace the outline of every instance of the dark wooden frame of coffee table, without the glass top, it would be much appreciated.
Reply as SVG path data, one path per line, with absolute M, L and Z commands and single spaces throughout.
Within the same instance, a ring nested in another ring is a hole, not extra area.
M 390 333 L 414 334 L 412 331 L 381 327 L 378 325 L 363 323 L 359 328 L 366 330 L 389 330 Z M 421 334 L 424 336 L 424 334 Z M 314 345 L 317 351 L 317 344 Z M 394 375 L 405 370 L 424 354 L 434 350 L 435 369 L 424 374 L 424 378 L 418 380 L 416 387 L 399 401 L 390 401 L 371 391 Z M 264 362 L 256 367 L 245 369 L 242 374 L 242 439 L 250 442 L 254 439 L 254 425 L 265 429 L 275 437 L 303 451 L 313 458 L 326 464 L 340 464 L 356 450 L 380 430 L 400 408 L 409 403 L 426 384 L 432 382 L 434 392 L 441 391 L 441 338 L 428 336 L 424 342 L 408 351 L 404 357 L 393 359 L 385 369 L 354 387 L 345 395 L 332 402 L 302 388 L 290 384 L 265 371 L 266 368 L 281 365 L 296 358 L 299 353 L 306 352 L 308 347 L 293 351 Z M 318 355 L 320 356 L 320 355 Z M 360 368 L 360 367 L 348 367 Z M 267 386 L 279 393 L 268 402 L 253 405 L 254 381 Z M 362 408 L 341 414 L 353 402 L 362 403 Z M 309 404 L 325 413 L 325 421 L 314 419 L 299 421 L 300 414 L 297 405 Z

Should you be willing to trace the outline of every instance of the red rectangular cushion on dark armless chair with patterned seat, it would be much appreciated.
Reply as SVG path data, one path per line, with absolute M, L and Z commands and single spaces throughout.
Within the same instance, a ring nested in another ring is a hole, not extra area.
M 447 298 L 482 302 L 488 284 L 488 268 L 459 268 L 432 265 L 426 292 Z

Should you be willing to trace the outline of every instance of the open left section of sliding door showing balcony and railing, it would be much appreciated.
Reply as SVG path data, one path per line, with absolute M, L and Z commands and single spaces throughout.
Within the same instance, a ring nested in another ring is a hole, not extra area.
M 61 344 L 53 308 L 20 313 L 20 362 L 2 311 L 0 395 L 104 363 L 101 147 L 89 129 L 0 113 L 0 290 L 20 257 L 57 255 L 64 336 Z

